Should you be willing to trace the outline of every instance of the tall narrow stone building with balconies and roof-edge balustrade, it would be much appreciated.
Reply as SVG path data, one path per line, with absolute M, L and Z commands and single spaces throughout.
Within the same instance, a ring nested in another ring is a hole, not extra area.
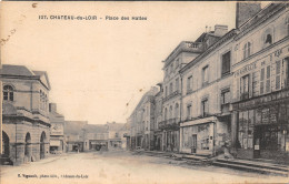
M 181 76 L 179 70 L 205 50 L 202 42 L 182 41 L 163 61 L 162 131 L 163 151 L 179 151 Z

